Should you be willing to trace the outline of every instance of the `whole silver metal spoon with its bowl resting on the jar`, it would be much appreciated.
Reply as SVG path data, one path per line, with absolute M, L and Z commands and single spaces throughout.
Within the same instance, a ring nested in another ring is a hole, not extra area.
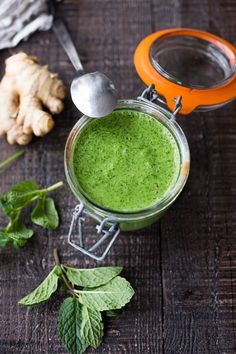
M 73 64 L 78 76 L 71 84 L 71 97 L 75 106 L 86 116 L 104 117 L 117 105 L 117 91 L 112 81 L 96 71 L 86 73 L 71 36 L 60 17 L 54 15 L 53 31 Z

